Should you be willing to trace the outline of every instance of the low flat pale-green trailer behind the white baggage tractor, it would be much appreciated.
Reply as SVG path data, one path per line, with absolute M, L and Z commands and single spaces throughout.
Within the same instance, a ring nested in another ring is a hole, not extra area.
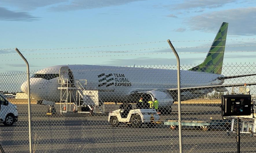
M 203 131 L 208 131 L 214 127 L 224 127 L 229 129 L 231 127 L 231 120 L 182 120 L 181 126 L 189 126 L 196 129 L 202 129 Z M 164 125 L 169 125 L 170 129 L 175 130 L 179 127 L 178 120 L 167 120 Z

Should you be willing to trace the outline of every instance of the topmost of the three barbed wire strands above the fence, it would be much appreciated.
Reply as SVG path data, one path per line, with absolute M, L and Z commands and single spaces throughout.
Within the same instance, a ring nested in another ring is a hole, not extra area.
M 246 39 L 223 39 L 223 40 L 255 40 L 255 38 L 246 38 Z M 171 41 L 171 42 L 198 42 L 198 41 L 215 41 L 215 40 L 178 40 L 178 41 Z M 166 42 L 166 41 L 151 41 L 151 42 L 142 42 L 142 43 L 132 43 L 132 44 L 119 44 L 119 45 L 104 45 L 104 46 L 90 46 L 90 47 L 65 47 L 65 48 L 41 48 L 41 49 L 28 49 L 28 48 L 20 48 L 20 50 L 29 50 L 29 51 L 36 51 L 36 50 L 62 50 L 62 49 L 85 49 L 85 48 L 99 48 L 99 47 L 117 47 L 117 46 L 127 46 L 127 45 L 141 45 L 141 44 L 150 44 L 150 43 L 159 43 L 159 42 Z M 0 50 L 15 50 L 15 48 L 2 48 Z

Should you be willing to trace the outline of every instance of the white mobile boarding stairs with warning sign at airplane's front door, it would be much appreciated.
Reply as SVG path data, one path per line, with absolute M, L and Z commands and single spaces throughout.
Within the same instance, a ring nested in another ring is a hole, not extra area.
M 69 79 L 59 79 L 58 83 L 60 84 L 58 87 L 60 90 L 60 114 L 68 112 L 89 113 L 90 115 L 104 114 L 104 104 L 103 110 L 99 106 L 98 91 L 86 90 L 87 80 L 74 80 L 74 83 L 70 83 Z M 74 107 L 71 107 L 71 101 L 74 101 Z

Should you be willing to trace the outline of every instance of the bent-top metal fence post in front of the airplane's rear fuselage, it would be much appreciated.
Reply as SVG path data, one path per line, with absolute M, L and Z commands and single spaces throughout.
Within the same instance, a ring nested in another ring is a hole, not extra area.
M 178 82 L 178 113 L 179 113 L 179 141 L 180 141 L 180 153 L 182 153 L 182 133 L 181 133 L 181 102 L 180 102 L 180 57 L 178 53 L 176 52 L 175 48 L 172 46 L 171 41 L 168 39 L 167 42 L 169 43 L 170 47 L 172 48 L 172 51 L 177 59 L 177 82 Z

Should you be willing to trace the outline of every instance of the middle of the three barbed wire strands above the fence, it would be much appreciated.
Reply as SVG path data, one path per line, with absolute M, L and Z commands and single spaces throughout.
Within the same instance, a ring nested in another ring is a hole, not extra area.
M 238 45 L 238 46 L 213 46 L 213 47 L 252 47 L 256 45 Z M 202 46 L 202 47 L 175 47 L 175 48 L 208 48 L 212 46 Z M 33 53 L 33 54 L 23 54 L 23 55 L 66 55 L 66 54 L 99 54 L 99 53 L 126 53 L 126 52 L 136 52 L 136 51 L 146 51 L 146 50 L 156 50 L 156 49 L 167 49 L 170 47 L 157 47 L 148 49 L 137 49 L 137 50 L 125 50 L 125 51 L 102 51 L 102 52 L 79 52 L 79 53 Z M 192 53 L 192 52 L 191 52 Z M 193 52 L 194 53 L 194 52 Z M 15 56 L 17 54 L 3 54 L 1 56 Z

